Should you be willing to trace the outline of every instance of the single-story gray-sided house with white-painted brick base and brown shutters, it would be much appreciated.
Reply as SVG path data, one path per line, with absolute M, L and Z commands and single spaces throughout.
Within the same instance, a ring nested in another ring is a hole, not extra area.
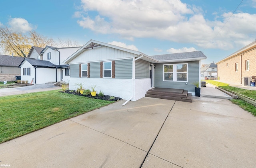
M 186 89 L 195 94 L 200 81 L 201 51 L 148 56 L 139 51 L 90 40 L 64 63 L 70 64 L 69 88 L 85 89 L 136 101 L 151 88 Z

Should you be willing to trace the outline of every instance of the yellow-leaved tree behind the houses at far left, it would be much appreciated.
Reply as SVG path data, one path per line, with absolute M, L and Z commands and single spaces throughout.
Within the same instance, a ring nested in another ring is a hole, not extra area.
M 4 53 L 8 55 L 15 53 L 19 57 L 26 57 L 31 48 L 26 35 L 12 32 L 8 27 L 0 27 L 0 46 Z

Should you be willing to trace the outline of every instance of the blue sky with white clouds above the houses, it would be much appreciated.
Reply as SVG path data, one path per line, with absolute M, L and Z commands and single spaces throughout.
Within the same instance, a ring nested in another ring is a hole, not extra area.
M 203 51 L 206 64 L 255 41 L 255 25 L 256 0 L 0 0 L 0 26 L 13 31 L 147 55 Z

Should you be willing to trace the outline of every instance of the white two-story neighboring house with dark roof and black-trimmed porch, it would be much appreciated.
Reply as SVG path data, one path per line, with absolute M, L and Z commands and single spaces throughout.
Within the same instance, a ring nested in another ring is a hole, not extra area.
M 72 53 L 80 47 L 32 47 L 28 58 L 20 64 L 21 80 L 28 80 L 32 84 L 43 84 L 46 82 L 68 82 L 69 64 L 63 63 Z M 42 60 L 41 60 L 42 59 Z

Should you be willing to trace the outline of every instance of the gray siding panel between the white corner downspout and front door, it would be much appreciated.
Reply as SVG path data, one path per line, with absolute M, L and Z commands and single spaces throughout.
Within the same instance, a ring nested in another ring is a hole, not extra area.
M 142 59 L 135 61 L 135 79 L 149 78 L 149 62 Z

